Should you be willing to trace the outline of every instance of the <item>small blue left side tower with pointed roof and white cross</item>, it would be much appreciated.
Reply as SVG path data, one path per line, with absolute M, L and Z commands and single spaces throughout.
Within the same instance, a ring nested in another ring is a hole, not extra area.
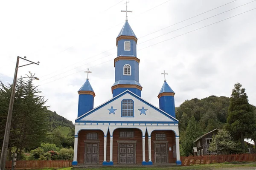
M 88 111 L 93 109 L 93 102 L 94 102 L 94 96 L 95 93 L 93 91 L 92 86 L 90 85 L 88 75 L 91 73 L 89 71 L 89 68 L 87 71 L 84 71 L 87 73 L 87 79 L 84 85 L 79 89 L 79 100 L 78 100 L 78 113 L 77 117 L 82 116 L 84 113 L 87 113 Z

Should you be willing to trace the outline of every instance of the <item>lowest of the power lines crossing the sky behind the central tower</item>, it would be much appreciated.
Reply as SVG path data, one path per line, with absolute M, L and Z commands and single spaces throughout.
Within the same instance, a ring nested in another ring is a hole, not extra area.
M 253 11 L 253 10 L 255 10 L 255 9 L 256 9 L 256 8 L 253 8 L 253 9 L 250 9 L 250 10 L 248 10 L 248 11 L 245 11 L 245 12 L 242 12 L 242 13 L 239 13 L 239 14 L 236 14 L 236 15 L 233 15 L 232 17 L 228 17 L 228 18 L 226 18 L 226 19 L 224 19 L 224 20 L 228 20 L 228 19 L 230 19 L 230 18 L 239 16 L 239 15 L 244 14 L 244 13 L 246 13 L 246 12 Z M 211 23 L 211 24 L 209 24 L 209 25 L 207 25 L 207 26 L 203 26 L 203 27 L 201 27 L 201 28 L 197 28 L 197 29 L 195 29 L 195 30 L 186 32 L 186 33 L 184 33 L 184 34 L 180 34 L 180 35 L 178 35 L 178 36 L 169 38 L 169 39 L 167 39 L 167 40 L 163 40 L 163 41 L 157 42 L 157 43 L 155 43 L 155 44 L 153 44 L 153 45 L 157 45 L 157 44 L 160 44 L 160 43 L 162 43 L 162 42 L 166 42 L 166 41 L 168 41 L 168 40 L 172 40 L 172 39 L 174 39 L 174 38 L 183 36 L 183 35 L 185 35 L 185 34 L 189 34 L 189 33 L 191 33 L 191 32 L 200 30 L 200 29 L 202 29 L 202 28 L 206 28 L 206 27 L 208 27 L 208 26 L 212 26 L 212 25 L 214 25 L 214 24 L 216 24 L 216 23 L 220 23 L 220 22 L 222 22 L 222 21 L 224 21 L 224 20 L 219 20 L 219 21 L 217 21 L 217 22 L 215 22 L 215 23 Z M 151 47 L 151 46 L 153 46 L 153 45 L 149 45 L 149 46 L 147 46 L 147 47 L 145 47 L 145 48 Z M 145 48 L 142 48 L 142 49 L 140 49 L 140 50 L 143 50 L 143 49 L 145 49 Z M 140 50 L 138 50 L 138 51 L 140 51 Z M 111 60 L 113 60 L 113 59 L 111 59 Z M 109 62 L 109 61 L 111 61 L 111 60 L 108 60 L 108 61 L 106 61 L 106 62 Z M 105 62 L 102 62 L 102 63 L 97 64 L 97 65 L 101 65 L 101 64 L 103 64 L 103 63 L 105 63 Z M 93 65 L 92 67 L 95 67 L 95 66 L 97 66 L 97 65 Z M 90 68 L 92 68 L 92 67 L 90 67 Z M 84 70 L 81 70 L 81 71 L 84 71 Z M 64 77 L 68 77 L 68 76 L 70 76 L 70 75 L 73 75 L 73 74 L 76 74 L 76 73 L 79 73 L 79 72 L 80 72 L 80 71 L 75 72 L 75 73 L 72 73 L 72 74 L 69 74 L 69 75 L 64 76 Z M 59 78 L 59 79 L 62 79 L 62 78 L 64 78 L 64 77 L 61 77 L 61 78 Z M 58 80 L 58 79 L 55 79 L 55 80 L 53 80 L 53 81 L 51 81 L 51 82 L 54 82 L 54 81 L 56 81 L 56 80 Z M 45 85 L 45 84 L 48 84 L 48 83 L 50 83 L 50 82 L 44 83 L 44 84 L 42 84 L 42 85 Z

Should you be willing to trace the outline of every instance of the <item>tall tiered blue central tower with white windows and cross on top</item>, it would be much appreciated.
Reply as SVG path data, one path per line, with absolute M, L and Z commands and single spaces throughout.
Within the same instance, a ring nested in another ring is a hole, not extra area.
M 115 83 L 112 85 L 113 97 L 129 90 L 141 97 L 142 86 L 139 83 L 139 63 L 137 58 L 137 37 L 127 20 L 116 37 L 117 57 L 114 59 Z

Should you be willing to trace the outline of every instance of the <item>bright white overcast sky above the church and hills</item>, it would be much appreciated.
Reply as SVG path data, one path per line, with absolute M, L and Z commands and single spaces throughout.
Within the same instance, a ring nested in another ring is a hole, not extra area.
M 251 1 L 130 0 L 128 10 L 133 13 L 128 13 L 128 22 L 138 37 L 142 98 L 159 106 L 161 73 L 166 70 L 167 82 L 176 93 L 175 106 L 209 95 L 229 97 L 236 82 L 246 89 L 250 104 L 256 105 L 256 10 L 232 17 L 256 8 L 256 1 Z M 17 56 L 40 61 L 40 65 L 19 68 L 18 77 L 28 71 L 35 73 L 40 78 L 35 85 L 48 99 L 50 110 L 74 122 L 77 91 L 86 80 L 87 68 L 92 71 L 89 79 L 96 94 L 94 107 L 112 98 L 113 59 L 117 55 L 116 36 L 125 23 L 125 12 L 120 12 L 125 10 L 124 3 L 1 1 L 0 80 L 12 83 Z M 245 3 L 249 4 L 241 6 Z M 237 6 L 241 7 L 212 17 Z M 209 12 L 186 20 L 205 11 Z M 204 20 L 208 17 L 212 18 Z M 224 20 L 228 17 L 232 18 Z M 200 20 L 204 21 L 187 26 Z M 224 21 L 207 26 L 220 20 Z

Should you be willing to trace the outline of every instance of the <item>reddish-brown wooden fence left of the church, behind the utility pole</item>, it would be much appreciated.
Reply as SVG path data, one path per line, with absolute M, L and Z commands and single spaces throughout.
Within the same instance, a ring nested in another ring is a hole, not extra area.
M 6 168 L 12 167 L 12 161 L 6 161 Z M 16 161 L 15 169 L 22 168 L 43 168 L 43 167 L 72 167 L 72 160 L 36 160 L 36 161 Z

